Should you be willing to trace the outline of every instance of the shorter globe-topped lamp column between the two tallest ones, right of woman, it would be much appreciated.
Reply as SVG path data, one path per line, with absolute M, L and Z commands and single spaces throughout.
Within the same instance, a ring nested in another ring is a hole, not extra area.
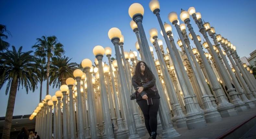
M 164 57 L 160 52 L 161 50 L 160 50 L 160 47 L 159 47 L 158 41 L 157 41 L 157 29 L 156 28 L 150 29 L 149 34 L 154 39 L 153 45 L 154 45 L 156 53 L 157 53 L 159 66 L 161 68 L 161 71 L 163 73 L 163 76 L 164 76 L 164 79 L 165 79 L 165 82 L 166 82 L 165 87 L 166 87 L 167 94 L 168 94 L 169 98 L 174 101 L 174 110 L 173 111 L 175 111 L 175 112 L 174 112 L 174 115 L 172 117 L 172 120 L 174 122 L 176 122 L 176 125 L 177 125 L 178 128 L 186 127 L 186 117 L 185 117 L 184 113 L 181 110 L 181 106 L 180 106 L 180 103 L 177 99 L 177 95 L 176 95 L 176 92 L 175 92 L 175 89 L 174 89 L 173 82 L 172 82 L 171 77 L 168 73 L 168 68 L 167 68 L 167 66 L 164 62 Z

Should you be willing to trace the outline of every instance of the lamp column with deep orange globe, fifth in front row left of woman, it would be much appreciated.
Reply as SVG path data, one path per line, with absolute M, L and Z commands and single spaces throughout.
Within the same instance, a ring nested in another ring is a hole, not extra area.
M 75 80 L 73 78 L 67 78 L 66 84 L 69 89 L 69 121 L 70 121 L 70 137 L 76 138 L 76 118 L 75 118 L 75 108 L 74 108 L 74 99 L 73 99 L 73 86 L 74 86 Z

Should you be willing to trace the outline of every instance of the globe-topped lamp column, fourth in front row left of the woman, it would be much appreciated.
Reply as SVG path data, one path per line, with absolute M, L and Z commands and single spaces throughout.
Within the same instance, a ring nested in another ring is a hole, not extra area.
M 85 131 L 84 131 L 84 117 L 83 117 L 83 107 L 82 107 L 82 96 L 81 96 L 81 84 L 80 84 L 80 81 L 81 81 L 81 77 L 83 76 L 83 71 L 80 70 L 80 69 L 76 69 L 74 70 L 73 72 L 73 75 L 76 79 L 76 82 L 77 82 L 77 86 L 76 86 L 76 93 L 77 93 L 77 109 L 76 109 L 76 114 L 78 115 L 77 118 L 79 121 L 78 123 L 78 126 L 77 126 L 77 137 L 79 139 L 84 139 L 85 138 Z

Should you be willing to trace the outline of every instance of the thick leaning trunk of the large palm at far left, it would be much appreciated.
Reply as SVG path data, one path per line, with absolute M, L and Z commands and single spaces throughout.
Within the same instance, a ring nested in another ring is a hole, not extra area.
M 4 123 L 4 127 L 3 127 L 2 139 L 10 138 L 11 126 L 12 126 L 12 116 L 13 116 L 15 98 L 16 98 L 16 93 L 17 93 L 17 85 L 18 85 L 17 79 L 15 81 L 12 80 L 11 89 L 10 89 L 9 98 L 8 98 L 8 104 L 7 104 L 7 108 L 6 108 L 5 123 Z

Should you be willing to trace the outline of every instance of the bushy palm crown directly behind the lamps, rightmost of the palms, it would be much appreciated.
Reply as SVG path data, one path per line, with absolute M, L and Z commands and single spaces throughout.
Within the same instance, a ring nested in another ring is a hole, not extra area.
M 65 84 L 66 79 L 73 77 L 73 71 L 77 69 L 76 62 L 70 62 L 69 57 L 53 57 L 50 65 L 50 85 L 52 88 Z

